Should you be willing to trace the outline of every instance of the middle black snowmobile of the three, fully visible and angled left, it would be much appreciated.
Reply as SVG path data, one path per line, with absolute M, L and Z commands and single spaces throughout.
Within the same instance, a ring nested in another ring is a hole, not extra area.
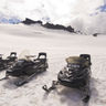
M 46 53 L 39 53 L 39 56 L 35 60 L 31 60 L 31 57 L 34 56 L 35 55 L 25 55 L 25 59 L 18 60 L 12 67 L 7 70 L 6 77 L 2 80 L 9 78 L 9 76 L 19 77 L 20 80 L 15 82 L 15 85 L 21 86 L 28 83 L 36 74 L 46 71 L 49 67 Z

